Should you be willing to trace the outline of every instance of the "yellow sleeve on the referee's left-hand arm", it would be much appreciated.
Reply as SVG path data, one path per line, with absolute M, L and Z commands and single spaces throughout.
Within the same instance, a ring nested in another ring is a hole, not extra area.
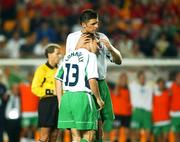
M 45 70 L 42 66 L 38 67 L 35 71 L 31 86 L 32 92 L 38 97 L 43 97 L 45 95 L 43 83 L 46 81 L 46 78 L 44 78 L 44 76 Z

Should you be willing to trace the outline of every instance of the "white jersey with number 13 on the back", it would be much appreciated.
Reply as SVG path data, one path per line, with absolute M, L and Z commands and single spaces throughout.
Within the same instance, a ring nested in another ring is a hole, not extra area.
M 65 55 L 55 78 L 63 81 L 65 91 L 91 92 L 88 80 L 98 79 L 96 55 L 84 48 L 69 52 Z

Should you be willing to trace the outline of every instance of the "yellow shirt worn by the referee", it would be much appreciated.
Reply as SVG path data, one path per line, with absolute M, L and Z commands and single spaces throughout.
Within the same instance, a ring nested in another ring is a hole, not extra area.
M 37 68 L 32 81 L 32 92 L 42 98 L 55 95 L 55 73 L 57 67 L 52 67 L 48 62 Z

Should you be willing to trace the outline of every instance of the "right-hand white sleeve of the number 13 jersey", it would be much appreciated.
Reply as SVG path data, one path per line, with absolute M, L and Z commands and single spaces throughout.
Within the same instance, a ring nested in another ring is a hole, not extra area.
M 96 54 L 90 53 L 87 63 L 87 77 L 91 78 L 99 78 L 98 69 L 97 69 L 97 57 Z

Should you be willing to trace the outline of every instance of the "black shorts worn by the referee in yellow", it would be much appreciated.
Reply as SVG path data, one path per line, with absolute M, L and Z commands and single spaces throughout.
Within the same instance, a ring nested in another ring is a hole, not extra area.
M 38 126 L 57 128 L 58 100 L 57 96 L 42 98 L 38 106 Z

